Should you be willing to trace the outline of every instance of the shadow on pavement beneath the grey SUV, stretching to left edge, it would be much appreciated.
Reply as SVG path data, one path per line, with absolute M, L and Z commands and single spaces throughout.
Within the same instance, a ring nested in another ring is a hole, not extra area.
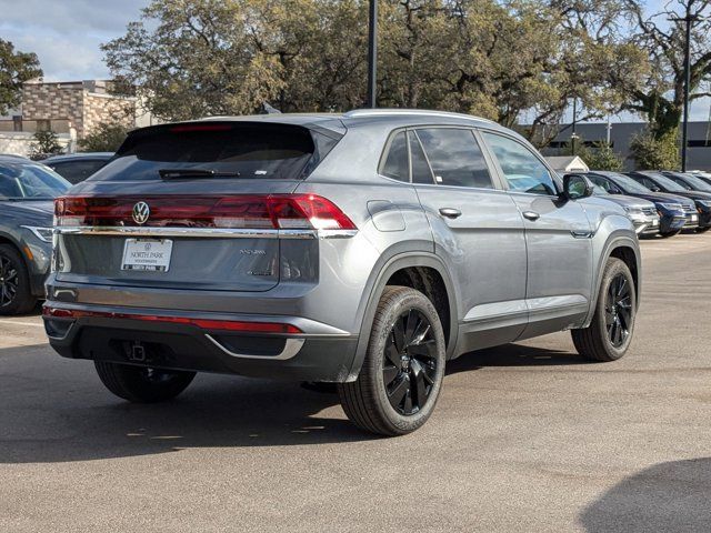
M 452 361 L 448 373 L 573 362 L 582 360 L 511 344 Z M 299 383 L 199 374 L 172 402 L 131 404 L 103 388 L 90 361 L 47 344 L 0 350 L 0 464 L 379 439 L 351 425 L 336 393 Z

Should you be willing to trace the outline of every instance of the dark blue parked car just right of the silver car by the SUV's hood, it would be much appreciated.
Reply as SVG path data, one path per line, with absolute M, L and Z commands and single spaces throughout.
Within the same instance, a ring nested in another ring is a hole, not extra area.
M 652 192 L 639 184 L 632 178 L 619 172 L 602 170 L 591 171 L 588 179 L 595 185 L 600 185 L 610 194 L 627 194 L 628 197 L 649 200 L 657 207 L 660 217 L 659 233 L 662 237 L 672 237 L 683 228 L 699 227 L 699 214 L 692 202 L 682 197 Z

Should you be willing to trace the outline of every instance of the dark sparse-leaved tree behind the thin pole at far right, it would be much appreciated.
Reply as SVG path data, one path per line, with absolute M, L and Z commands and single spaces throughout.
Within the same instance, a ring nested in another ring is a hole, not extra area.
M 650 134 L 654 139 L 675 138 L 683 110 L 685 47 L 685 23 L 678 19 L 687 16 L 700 19 L 694 23 L 691 37 L 690 100 L 709 97 L 711 93 L 698 89 L 711 80 L 711 19 L 708 18 L 711 0 L 670 1 L 663 11 L 651 17 L 645 16 L 639 0 L 627 2 L 638 24 L 630 42 L 644 49 L 652 69 L 641 87 L 629 91 L 630 101 L 625 108 L 649 120 Z

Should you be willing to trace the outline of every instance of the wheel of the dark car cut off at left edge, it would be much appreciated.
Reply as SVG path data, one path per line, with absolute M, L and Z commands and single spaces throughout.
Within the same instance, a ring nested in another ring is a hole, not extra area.
M 0 315 L 29 313 L 34 305 L 22 257 L 14 247 L 0 244 Z

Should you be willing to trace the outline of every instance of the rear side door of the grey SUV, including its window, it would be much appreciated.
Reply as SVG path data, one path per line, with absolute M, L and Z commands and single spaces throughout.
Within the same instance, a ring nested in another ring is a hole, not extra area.
M 434 251 L 454 278 L 458 352 L 515 340 L 525 329 L 523 219 L 468 128 L 408 132 L 412 182 Z

